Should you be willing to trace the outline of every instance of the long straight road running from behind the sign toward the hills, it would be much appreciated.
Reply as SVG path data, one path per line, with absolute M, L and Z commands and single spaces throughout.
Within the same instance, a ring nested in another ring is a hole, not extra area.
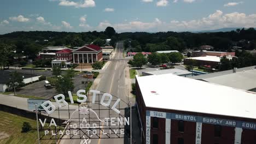
M 127 66 L 127 60 L 123 58 L 123 43 L 117 43 L 116 53 L 112 62 L 110 62 L 108 68 L 104 71 L 100 83 L 97 86 L 97 91 L 112 94 L 115 97 L 120 98 L 129 103 L 127 94 L 129 89 L 125 85 L 125 68 Z M 131 90 L 131 89 L 130 89 Z M 114 99 L 114 98 L 113 98 Z M 97 100 L 97 99 L 96 99 Z M 117 100 L 117 98 L 115 99 Z M 128 107 L 125 103 L 120 103 L 120 108 Z M 113 105 L 112 103 L 110 105 Z M 96 106 L 92 105 L 91 109 L 97 109 Z M 119 117 L 114 111 L 102 110 L 100 117 Z M 124 114 L 124 111 L 121 111 Z M 104 126 L 103 126 L 104 127 Z M 81 140 L 62 140 L 61 143 L 80 143 Z M 124 139 L 92 139 L 91 143 L 124 143 Z

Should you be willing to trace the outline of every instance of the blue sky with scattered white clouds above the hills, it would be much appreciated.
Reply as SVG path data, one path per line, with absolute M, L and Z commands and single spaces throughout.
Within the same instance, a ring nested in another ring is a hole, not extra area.
M 254 0 L 2 0 L 0 34 L 14 31 L 200 31 L 256 27 Z

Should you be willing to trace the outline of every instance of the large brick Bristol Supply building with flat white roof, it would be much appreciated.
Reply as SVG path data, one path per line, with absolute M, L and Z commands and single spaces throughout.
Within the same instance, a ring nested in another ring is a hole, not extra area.
M 256 93 L 172 74 L 136 76 L 142 143 L 256 143 Z

